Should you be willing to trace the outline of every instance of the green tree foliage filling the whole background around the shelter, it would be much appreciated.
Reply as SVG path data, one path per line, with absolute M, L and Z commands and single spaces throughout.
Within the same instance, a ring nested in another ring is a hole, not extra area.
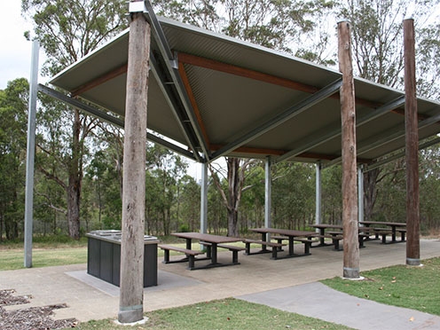
M 326 15 L 344 17 L 353 25 L 354 59 L 358 75 L 378 83 L 402 86 L 401 20 L 404 0 L 327 2 L 325 0 L 181 0 L 154 1 L 160 14 L 290 51 L 304 59 L 332 65 L 326 59 L 331 36 L 322 26 Z M 416 19 L 420 95 L 438 98 L 440 25 L 427 25 L 429 9 L 438 1 L 413 1 Z M 35 23 L 31 38 L 43 43 L 52 74 L 89 53 L 126 27 L 126 4 L 116 0 L 22 0 L 23 14 Z M 419 24 L 423 23 L 423 24 Z M 328 29 L 327 29 L 328 30 Z M 325 32 L 321 34 L 321 32 Z M 318 39 L 316 38 L 318 35 Z M 309 47 L 310 43 L 310 47 Z M 24 174 L 27 131 L 27 82 L 17 79 L 0 90 L 0 238 L 18 240 L 24 214 Z M 75 177 L 81 198 L 81 232 L 121 228 L 122 130 L 39 96 L 35 153 L 35 232 L 67 233 L 67 186 Z M 76 126 L 75 126 L 76 125 Z M 79 126 L 78 126 L 79 125 Z M 81 135 L 74 135 L 74 127 Z M 77 139 L 75 143 L 75 138 Z M 420 152 L 421 230 L 440 227 L 438 147 Z M 152 234 L 197 231 L 200 224 L 200 183 L 186 174 L 187 164 L 174 153 L 147 147 L 145 164 L 145 227 Z M 405 221 L 405 172 L 402 161 L 365 178 L 365 216 Z M 277 164 L 272 169 L 273 224 L 303 228 L 314 219 L 315 169 L 307 164 Z M 244 172 L 238 216 L 240 232 L 263 225 L 263 162 Z M 224 192 L 227 179 L 218 177 Z M 73 185 L 72 184 L 72 185 Z M 322 172 L 323 219 L 342 218 L 340 167 Z M 368 193 L 371 190 L 371 194 Z M 368 207 L 366 207 L 368 205 Z M 208 230 L 224 234 L 228 227 L 224 200 L 212 177 L 208 183 Z

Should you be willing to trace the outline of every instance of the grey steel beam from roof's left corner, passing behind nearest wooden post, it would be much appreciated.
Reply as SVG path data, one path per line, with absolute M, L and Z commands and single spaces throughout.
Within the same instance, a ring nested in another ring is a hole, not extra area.
M 50 96 L 51 98 L 56 98 L 61 102 L 66 103 L 67 105 L 74 106 L 80 110 L 83 110 L 87 114 L 92 114 L 99 119 L 108 122 L 110 124 L 113 124 L 121 129 L 124 128 L 124 122 L 122 119 L 119 119 L 117 117 L 114 117 L 113 115 L 106 114 L 104 111 L 99 110 L 93 106 L 89 106 L 78 99 L 70 98 L 67 95 L 64 95 L 63 93 L 60 93 L 58 90 L 52 90 L 50 87 L 44 86 L 41 83 L 38 84 L 38 91 L 43 92 L 44 94 Z M 171 149 L 172 151 L 179 153 L 187 158 L 190 158 L 192 160 L 195 160 L 195 157 L 193 153 L 191 153 L 188 150 L 185 150 L 184 148 L 181 148 L 178 145 L 174 145 L 171 142 L 164 140 L 163 138 L 159 138 L 155 136 L 152 133 L 146 132 L 146 138 L 150 141 L 153 141 L 154 143 L 158 145 L 162 145 L 166 148 Z

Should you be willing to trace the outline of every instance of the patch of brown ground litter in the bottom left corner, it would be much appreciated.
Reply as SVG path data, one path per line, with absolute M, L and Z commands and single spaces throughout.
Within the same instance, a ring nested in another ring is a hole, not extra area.
M 75 327 L 75 318 L 51 318 L 53 310 L 66 308 L 66 303 L 20 310 L 5 310 L 2 306 L 29 303 L 28 295 L 13 295 L 14 290 L 0 290 L 0 329 L 3 330 L 48 330 Z

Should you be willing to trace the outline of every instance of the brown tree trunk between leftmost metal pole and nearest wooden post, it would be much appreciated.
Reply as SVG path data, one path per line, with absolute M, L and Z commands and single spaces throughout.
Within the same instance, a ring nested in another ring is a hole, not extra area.
M 80 150 L 80 130 L 81 121 L 80 114 L 75 109 L 75 120 L 73 126 L 73 145 L 72 159 L 70 160 L 69 176 L 67 185 L 67 227 L 69 236 L 75 240 L 80 238 L 80 198 L 81 198 L 81 181 L 83 178 L 83 170 L 81 166 L 81 150 Z

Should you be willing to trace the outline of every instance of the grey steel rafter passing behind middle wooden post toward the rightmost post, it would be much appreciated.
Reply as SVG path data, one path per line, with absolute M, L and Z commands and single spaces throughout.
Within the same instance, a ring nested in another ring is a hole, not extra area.
M 359 127 L 367 122 L 371 122 L 374 119 L 380 117 L 382 114 L 389 114 L 390 111 L 396 109 L 399 106 L 405 105 L 405 96 L 399 97 L 383 106 L 380 106 L 376 109 L 374 109 L 373 112 L 370 114 L 365 114 L 365 116 L 361 118 L 357 118 L 356 126 Z M 341 135 L 342 129 L 337 128 L 334 130 L 328 130 L 326 133 L 322 134 L 321 132 L 316 132 L 314 134 L 315 137 L 318 138 L 312 138 L 310 142 L 306 143 L 305 145 L 301 144 L 301 147 L 298 147 L 292 151 L 289 151 L 279 158 L 277 158 L 275 161 L 285 161 L 289 158 L 293 158 L 301 153 L 304 153 L 310 149 L 313 149 L 314 147 L 321 145 L 323 143 L 326 143 L 327 141 L 331 140 L 332 138 L 337 138 L 339 135 Z

